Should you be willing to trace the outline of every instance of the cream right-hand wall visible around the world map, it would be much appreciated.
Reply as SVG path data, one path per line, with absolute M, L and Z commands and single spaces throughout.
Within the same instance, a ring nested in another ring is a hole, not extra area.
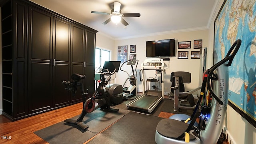
M 224 0 L 218 0 L 218 6 L 214 14 L 213 20 L 209 27 L 209 48 L 208 56 L 213 55 L 214 46 L 214 20 L 220 10 Z M 209 59 L 209 58 L 208 58 Z M 213 59 L 213 57 L 211 58 Z M 212 62 L 210 63 L 212 64 Z M 209 67 L 208 67 L 209 68 Z M 230 144 L 256 144 L 256 128 L 238 114 L 228 105 L 226 116 L 226 134 Z

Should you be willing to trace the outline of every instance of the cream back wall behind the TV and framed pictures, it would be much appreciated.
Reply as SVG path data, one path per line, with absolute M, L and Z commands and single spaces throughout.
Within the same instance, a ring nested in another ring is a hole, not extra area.
M 113 52 L 113 57 L 117 60 L 117 47 L 128 45 L 128 58 L 130 55 L 130 45 L 136 45 L 136 59 L 139 60 L 139 64 L 137 67 L 137 72 L 141 69 L 141 63 L 144 62 L 146 59 L 146 41 L 151 40 L 163 40 L 163 39 L 172 39 L 175 38 L 175 47 L 176 47 L 176 55 L 175 57 L 170 57 L 170 61 L 164 61 L 167 65 L 166 67 L 166 74 L 164 76 L 164 92 L 170 92 L 170 73 L 174 71 L 186 71 L 190 72 L 192 75 L 192 80 L 190 84 L 186 84 L 186 90 L 192 90 L 199 86 L 199 73 L 200 73 L 200 59 L 191 59 L 191 51 L 199 51 L 199 49 L 194 49 L 194 40 L 202 39 L 202 46 L 208 47 L 208 30 L 190 30 L 187 32 L 172 32 L 169 34 L 158 34 L 152 36 L 144 36 L 138 38 L 129 38 L 125 40 L 116 40 L 115 42 L 115 51 Z M 192 47 L 189 49 L 178 49 L 178 42 L 182 41 L 191 41 Z M 189 58 L 188 59 L 178 59 L 177 51 L 189 51 Z M 167 58 L 167 57 L 166 57 Z M 131 68 L 130 68 L 131 69 Z M 129 71 L 131 71 L 128 69 Z M 155 71 L 150 72 L 146 71 L 146 78 L 148 77 L 155 77 Z M 118 84 L 123 84 L 124 80 L 128 77 L 125 72 L 118 72 L 116 82 Z M 160 75 L 159 75 L 160 77 Z M 142 82 L 139 81 L 139 74 L 137 75 L 138 79 L 138 91 L 143 91 Z

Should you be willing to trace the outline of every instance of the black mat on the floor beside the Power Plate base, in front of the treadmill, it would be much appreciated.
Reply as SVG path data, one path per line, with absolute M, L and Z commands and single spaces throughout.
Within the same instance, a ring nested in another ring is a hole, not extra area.
M 129 112 L 88 144 L 156 144 L 156 126 L 163 118 Z

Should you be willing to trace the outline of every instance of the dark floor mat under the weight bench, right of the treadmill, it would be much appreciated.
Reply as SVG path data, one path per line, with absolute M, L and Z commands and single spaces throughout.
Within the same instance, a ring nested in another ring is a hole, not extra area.
M 160 111 L 162 111 L 162 112 L 169 112 L 169 113 L 173 113 L 173 114 L 187 114 L 187 115 L 191 116 L 194 111 L 194 110 L 180 108 L 179 111 L 177 112 L 177 111 L 174 111 L 173 109 L 174 109 L 174 100 L 164 99 L 163 105 L 160 108 Z

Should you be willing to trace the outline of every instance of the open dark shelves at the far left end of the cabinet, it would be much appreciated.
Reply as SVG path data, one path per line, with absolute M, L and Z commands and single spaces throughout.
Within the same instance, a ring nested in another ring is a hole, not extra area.
M 12 3 L 2 6 L 2 91 L 3 109 L 12 115 Z

